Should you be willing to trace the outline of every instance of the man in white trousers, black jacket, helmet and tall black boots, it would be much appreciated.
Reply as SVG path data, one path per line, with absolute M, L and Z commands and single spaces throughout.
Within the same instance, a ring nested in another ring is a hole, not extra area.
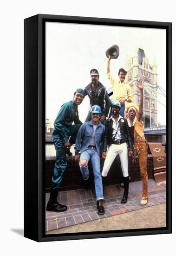
M 124 176 L 124 196 L 121 203 L 126 203 L 129 190 L 129 174 L 128 174 L 128 156 L 133 154 L 132 141 L 128 123 L 125 118 L 119 115 L 120 102 L 112 101 L 111 103 L 111 118 L 106 121 L 105 135 L 104 135 L 104 148 L 102 157 L 105 159 L 102 171 L 103 185 L 105 184 L 106 176 L 108 175 L 111 164 L 115 157 L 119 155 L 122 172 Z M 129 152 L 128 152 L 128 147 Z M 107 146 L 109 146 L 107 155 Z

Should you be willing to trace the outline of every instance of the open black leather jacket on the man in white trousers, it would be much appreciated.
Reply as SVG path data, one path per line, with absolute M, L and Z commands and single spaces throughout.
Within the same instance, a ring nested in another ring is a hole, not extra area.
M 113 124 L 112 119 L 108 119 L 105 124 L 104 145 L 103 145 L 104 152 L 106 152 L 107 147 L 108 146 L 110 147 L 112 144 L 112 124 Z M 123 117 L 119 120 L 119 128 L 120 128 L 120 133 L 122 136 L 123 143 L 127 142 L 129 151 L 132 151 L 132 141 L 130 136 L 130 130 L 128 127 L 128 122 Z

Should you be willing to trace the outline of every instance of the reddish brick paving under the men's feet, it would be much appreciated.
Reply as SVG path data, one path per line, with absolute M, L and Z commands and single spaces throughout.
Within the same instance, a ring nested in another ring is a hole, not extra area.
M 46 232 L 109 216 L 120 215 L 166 202 L 165 184 L 157 187 L 154 180 L 149 180 L 149 202 L 144 206 L 140 205 L 141 192 L 141 181 L 130 182 L 128 202 L 121 204 L 124 189 L 119 184 L 106 186 L 104 189 L 104 215 L 98 215 L 96 195 L 93 188 L 59 192 L 59 202 L 66 204 L 68 210 L 61 213 L 46 211 Z M 49 193 L 46 194 L 46 203 L 48 199 Z

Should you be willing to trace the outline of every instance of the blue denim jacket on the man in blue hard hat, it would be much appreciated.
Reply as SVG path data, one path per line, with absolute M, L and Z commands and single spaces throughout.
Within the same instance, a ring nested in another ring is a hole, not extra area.
M 102 143 L 104 140 L 104 131 L 105 131 L 104 125 L 101 122 L 99 122 L 95 130 L 95 145 L 96 145 L 98 154 L 103 149 Z M 93 123 L 91 120 L 91 121 L 85 122 L 79 128 L 78 135 L 76 138 L 76 143 L 75 143 L 75 154 L 78 154 L 79 151 L 80 153 L 83 153 L 86 150 L 86 148 L 89 146 L 92 135 L 93 135 Z

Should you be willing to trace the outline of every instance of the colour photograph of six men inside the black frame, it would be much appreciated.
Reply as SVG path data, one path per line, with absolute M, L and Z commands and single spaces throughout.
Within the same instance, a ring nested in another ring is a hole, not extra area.
M 166 227 L 166 30 L 46 22 L 46 235 Z

